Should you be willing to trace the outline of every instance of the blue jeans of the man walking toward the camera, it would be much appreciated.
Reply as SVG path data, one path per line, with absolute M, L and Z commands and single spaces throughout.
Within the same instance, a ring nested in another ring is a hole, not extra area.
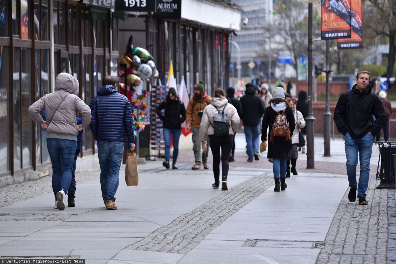
M 370 177 L 370 158 L 373 149 L 374 137 L 367 133 L 362 139 L 354 139 L 345 135 L 346 173 L 348 174 L 349 187 L 358 186 L 358 197 L 366 198 L 366 191 Z M 358 164 L 358 153 L 360 154 L 359 185 L 356 182 L 356 165 Z

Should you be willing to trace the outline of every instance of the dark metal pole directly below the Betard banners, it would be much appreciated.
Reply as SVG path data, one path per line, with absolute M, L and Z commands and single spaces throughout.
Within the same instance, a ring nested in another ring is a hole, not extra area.
M 324 128 L 324 157 L 331 157 L 330 155 L 330 41 L 326 40 L 326 109 L 323 113 L 323 128 Z

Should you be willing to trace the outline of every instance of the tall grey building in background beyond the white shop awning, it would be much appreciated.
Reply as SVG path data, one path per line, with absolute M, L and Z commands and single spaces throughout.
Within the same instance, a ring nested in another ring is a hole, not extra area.
M 265 28 L 272 21 L 273 0 L 231 0 L 232 4 L 239 6 L 241 13 L 241 30 L 234 40 L 240 48 L 241 53 L 241 76 L 249 74 L 268 73 L 268 40 L 270 35 Z M 231 46 L 231 63 L 230 76 L 236 77 L 236 61 L 238 52 L 234 45 Z M 250 69 L 248 64 L 253 61 L 255 66 Z

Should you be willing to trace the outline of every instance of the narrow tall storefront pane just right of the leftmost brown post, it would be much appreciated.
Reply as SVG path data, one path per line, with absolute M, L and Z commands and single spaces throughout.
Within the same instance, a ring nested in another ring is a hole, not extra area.
M 13 96 L 14 96 L 14 120 L 11 122 L 14 126 L 14 170 L 21 169 L 21 82 L 20 73 L 20 54 L 21 48 L 14 48 L 14 65 L 13 74 L 18 78 L 13 78 Z

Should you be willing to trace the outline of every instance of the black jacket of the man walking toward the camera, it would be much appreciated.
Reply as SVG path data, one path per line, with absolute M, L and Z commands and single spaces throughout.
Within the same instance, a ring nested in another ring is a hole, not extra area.
M 385 111 L 381 100 L 371 92 L 370 86 L 360 93 L 355 84 L 352 90 L 345 91 L 338 99 L 334 122 L 344 136 L 349 132 L 352 138 L 362 139 L 368 132 L 375 135 L 382 129 Z

